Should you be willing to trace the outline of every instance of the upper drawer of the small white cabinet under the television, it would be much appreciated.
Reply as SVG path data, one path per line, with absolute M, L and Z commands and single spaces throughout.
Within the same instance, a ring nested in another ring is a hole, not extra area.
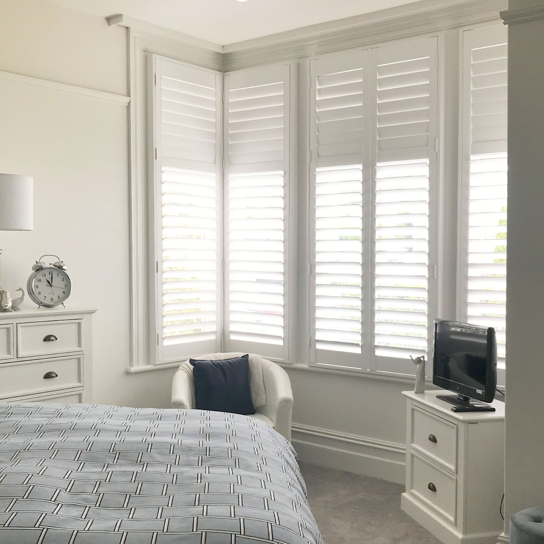
M 457 440 L 456 425 L 417 407 L 412 408 L 412 449 L 455 473 Z

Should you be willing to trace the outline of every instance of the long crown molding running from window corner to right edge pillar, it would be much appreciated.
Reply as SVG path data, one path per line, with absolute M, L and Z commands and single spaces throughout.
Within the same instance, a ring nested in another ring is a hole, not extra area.
M 451 28 L 499 22 L 506 0 L 409 4 L 367 16 L 306 27 L 290 33 L 267 36 L 224 46 L 222 70 L 230 71 L 267 62 L 279 62 L 364 47 L 384 41 L 411 38 Z M 336 25 L 336 28 L 333 28 Z M 317 28 L 319 27 L 319 28 Z

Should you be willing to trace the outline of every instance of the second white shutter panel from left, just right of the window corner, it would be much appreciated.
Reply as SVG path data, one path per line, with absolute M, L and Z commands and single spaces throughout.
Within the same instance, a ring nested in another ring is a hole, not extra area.
M 225 76 L 225 345 L 287 359 L 289 65 Z

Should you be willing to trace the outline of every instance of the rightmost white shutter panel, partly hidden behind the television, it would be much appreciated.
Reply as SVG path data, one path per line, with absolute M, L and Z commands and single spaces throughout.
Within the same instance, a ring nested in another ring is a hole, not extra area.
M 506 338 L 507 45 L 502 25 L 463 32 L 463 203 L 460 319 Z

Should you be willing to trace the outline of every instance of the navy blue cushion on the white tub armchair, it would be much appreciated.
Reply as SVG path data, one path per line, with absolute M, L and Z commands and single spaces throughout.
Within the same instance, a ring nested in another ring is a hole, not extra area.
M 197 410 L 255 413 L 249 388 L 249 355 L 203 361 L 190 359 L 195 378 L 195 407 Z

